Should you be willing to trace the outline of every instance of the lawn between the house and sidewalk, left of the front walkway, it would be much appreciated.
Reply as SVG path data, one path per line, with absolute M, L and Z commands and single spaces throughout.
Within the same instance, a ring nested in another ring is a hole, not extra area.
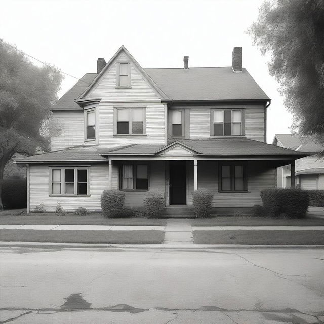
M 146 225 L 166 226 L 165 219 L 151 219 L 144 217 L 133 218 L 105 218 L 101 213 L 89 215 L 66 214 L 58 216 L 55 213 L 32 213 L 30 215 L 4 215 L 0 212 L 0 224 L 59 224 L 59 225 Z

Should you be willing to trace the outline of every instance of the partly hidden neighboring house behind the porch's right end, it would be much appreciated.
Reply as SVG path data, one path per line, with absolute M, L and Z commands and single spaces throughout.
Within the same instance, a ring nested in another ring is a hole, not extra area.
M 324 158 L 317 155 L 324 150 L 323 146 L 312 139 L 292 134 L 276 134 L 272 144 L 310 155 L 296 161 L 295 181 L 297 188 L 305 190 L 324 189 Z M 278 188 L 290 187 L 290 166 L 279 167 L 276 179 Z

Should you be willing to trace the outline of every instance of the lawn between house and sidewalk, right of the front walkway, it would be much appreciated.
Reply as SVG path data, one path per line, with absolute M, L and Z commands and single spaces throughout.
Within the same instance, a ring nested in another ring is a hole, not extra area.
M 255 216 L 218 216 L 188 219 L 191 226 L 324 226 L 322 218 L 269 219 Z

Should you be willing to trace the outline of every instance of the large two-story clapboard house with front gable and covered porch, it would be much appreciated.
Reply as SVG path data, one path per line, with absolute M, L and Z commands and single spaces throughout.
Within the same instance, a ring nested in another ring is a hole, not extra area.
M 166 206 L 192 205 L 207 188 L 215 207 L 260 204 L 275 169 L 307 154 L 266 144 L 270 99 L 242 68 L 143 69 L 122 46 L 97 73 L 85 74 L 53 106 L 62 126 L 52 152 L 17 160 L 28 170 L 28 208 L 58 202 L 66 210 L 100 210 L 105 189 L 141 207 L 148 192 Z

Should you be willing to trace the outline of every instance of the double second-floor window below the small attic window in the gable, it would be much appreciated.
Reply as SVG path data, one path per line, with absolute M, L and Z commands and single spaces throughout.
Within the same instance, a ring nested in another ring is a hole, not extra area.
M 144 121 L 145 108 L 118 108 L 117 134 L 144 134 Z

